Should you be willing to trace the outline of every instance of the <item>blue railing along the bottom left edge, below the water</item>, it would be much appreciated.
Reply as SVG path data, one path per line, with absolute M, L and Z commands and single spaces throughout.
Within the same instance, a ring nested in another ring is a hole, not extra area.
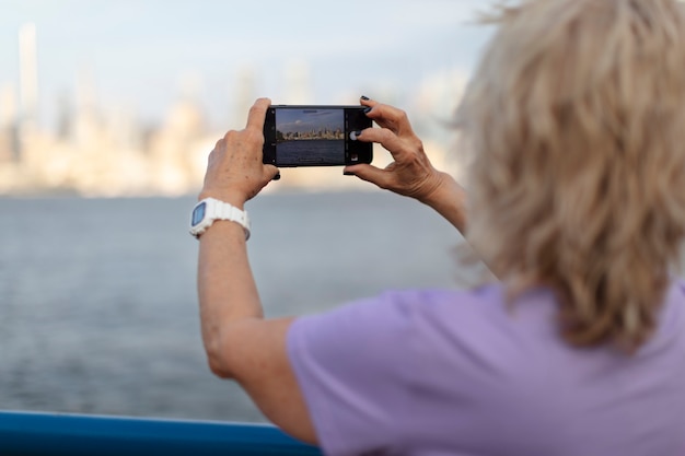
M 268 424 L 0 411 L 0 455 L 321 455 Z

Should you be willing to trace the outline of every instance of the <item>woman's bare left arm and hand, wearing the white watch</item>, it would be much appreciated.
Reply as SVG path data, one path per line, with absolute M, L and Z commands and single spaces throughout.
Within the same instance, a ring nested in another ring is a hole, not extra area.
M 255 103 L 247 127 L 229 131 L 209 156 L 200 199 L 243 209 L 278 169 L 262 163 L 266 98 Z M 202 341 L 213 373 L 235 378 L 264 414 L 291 435 L 316 436 L 294 377 L 286 337 L 291 319 L 265 320 L 237 223 L 214 222 L 201 236 L 198 294 Z

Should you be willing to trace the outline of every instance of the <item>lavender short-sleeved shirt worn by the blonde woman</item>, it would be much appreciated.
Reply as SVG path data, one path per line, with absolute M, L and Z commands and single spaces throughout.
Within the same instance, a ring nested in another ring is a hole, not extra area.
M 392 292 L 295 320 L 288 353 L 326 454 L 685 455 L 685 287 L 628 356 L 573 349 L 546 290 Z

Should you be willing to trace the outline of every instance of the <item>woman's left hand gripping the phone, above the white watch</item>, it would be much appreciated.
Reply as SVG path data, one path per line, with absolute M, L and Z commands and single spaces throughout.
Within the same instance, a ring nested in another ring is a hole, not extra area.
M 278 168 L 262 163 L 264 119 L 270 104 L 268 98 L 257 100 L 245 129 L 231 130 L 217 142 L 209 154 L 199 199 L 212 197 L 242 208 L 276 177 Z

